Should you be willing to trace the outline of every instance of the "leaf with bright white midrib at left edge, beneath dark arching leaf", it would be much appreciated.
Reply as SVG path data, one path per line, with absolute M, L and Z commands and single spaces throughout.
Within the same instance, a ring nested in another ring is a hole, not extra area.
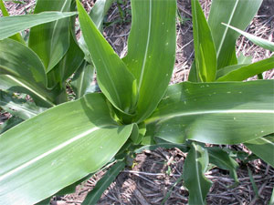
M 37 87 L 37 85 L 30 84 L 22 78 L 0 75 L 0 89 L 28 94 L 39 107 L 50 108 L 55 106 L 55 92 L 43 87 Z

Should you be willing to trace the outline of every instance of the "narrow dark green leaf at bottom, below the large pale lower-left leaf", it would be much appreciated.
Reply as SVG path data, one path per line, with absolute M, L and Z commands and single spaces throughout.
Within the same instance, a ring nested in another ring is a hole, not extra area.
M 100 200 L 100 196 L 105 190 L 107 190 L 112 181 L 116 179 L 118 174 L 124 169 L 125 163 L 123 161 L 118 161 L 114 164 L 111 169 L 109 169 L 104 176 L 97 182 L 95 187 L 88 193 L 86 199 L 83 201 L 82 205 L 94 205 Z

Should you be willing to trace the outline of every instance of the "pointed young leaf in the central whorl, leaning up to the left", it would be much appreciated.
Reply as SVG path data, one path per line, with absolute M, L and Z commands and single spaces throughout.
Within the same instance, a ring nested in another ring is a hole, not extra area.
M 77 6 L 81 31 L 96 67 L 100 89 L 115 108 L 129 113 L 136 103 L 136 80 L 100 34 L 79 0 Z

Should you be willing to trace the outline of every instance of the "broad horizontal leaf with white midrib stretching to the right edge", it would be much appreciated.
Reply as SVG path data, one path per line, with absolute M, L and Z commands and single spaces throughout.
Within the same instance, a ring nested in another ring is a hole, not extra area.
M 273 80 L 184 82 L 168 88 L 145 120 L 147 132 L 173 143 L 237 144 L 274 132 Z

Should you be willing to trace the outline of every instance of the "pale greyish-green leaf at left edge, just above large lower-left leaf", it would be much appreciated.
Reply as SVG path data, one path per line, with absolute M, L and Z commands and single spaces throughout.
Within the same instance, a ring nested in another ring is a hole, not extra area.
M 3 90 L 0 90 L 0 107 L 22 119 L 35 117 L 45 111 L 45 108 L 38 108 L 34 103 L 14 97 Z

